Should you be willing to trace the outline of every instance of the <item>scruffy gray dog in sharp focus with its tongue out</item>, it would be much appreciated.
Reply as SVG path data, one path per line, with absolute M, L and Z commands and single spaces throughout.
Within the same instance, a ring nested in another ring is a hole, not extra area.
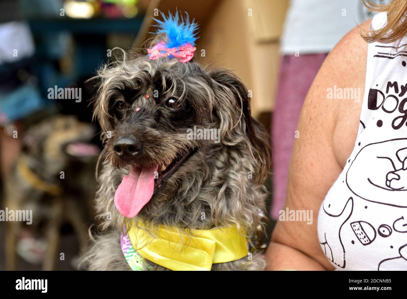
M 98 77 L 94 115 L 105 138 L 95 205 L 101 224 L 83 255 L 85 266 L 130 270 L 120 234 L 138 221 L 147 231 L 165 225 L 185 238 L 194 229 L 237 225 L 253 244 L 262 225 L 270 151 L 268 134 L 250 116 L 241 80 L 225 69 L 207 72 L 194 61 L 126 53 Z M 189 138 L 194 127 L 219 129 L 220 142 Z M 129 186 L 118 190 L 125 176 Z M 134 176 L 138 181 L 131 181 Z M 142 262 L 144 270 L 166 270 L 154 260 Z M 264 266 L 254 253 L 212 270 Z

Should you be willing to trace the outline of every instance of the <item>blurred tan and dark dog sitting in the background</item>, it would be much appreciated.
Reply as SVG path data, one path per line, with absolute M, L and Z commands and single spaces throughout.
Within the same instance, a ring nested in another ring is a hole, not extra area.
M 80 247 L 85 246 L 99 151 L 90 143 L 94 134 L 92 125 L 64 115 L 48 117 L 24 134 L 22 152 L 4 182 L 5 206 L 32 210 L 32 224 L 7 222 L 6 269 L 17 268 L 16 251 L 26 260 L 43 262 L 44 270 L 54 269 L 66 222 Z

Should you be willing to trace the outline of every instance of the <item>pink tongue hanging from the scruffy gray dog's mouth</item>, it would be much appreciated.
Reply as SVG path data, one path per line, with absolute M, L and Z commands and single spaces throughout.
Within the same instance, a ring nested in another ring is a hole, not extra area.
M 146 205 L 154 192 L 154 173 L 158 164 L 142 169 L 131 166 L 114 194 L 114 204 L 123 216 L 132 218 Z

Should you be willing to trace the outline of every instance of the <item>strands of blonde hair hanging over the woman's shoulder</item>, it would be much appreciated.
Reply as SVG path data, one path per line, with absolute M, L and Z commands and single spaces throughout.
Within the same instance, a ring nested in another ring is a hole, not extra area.
M 378 30 L 363 31 L 363 39 L 369 43 L 378 41 L 389 44 L 399 41 L 407 34 L 407 0 L 393 0 L 388 4 L 376 4 L 371 0 L 362 0 L 363 5 L 374 12 L 387 12 L 387 23 Z

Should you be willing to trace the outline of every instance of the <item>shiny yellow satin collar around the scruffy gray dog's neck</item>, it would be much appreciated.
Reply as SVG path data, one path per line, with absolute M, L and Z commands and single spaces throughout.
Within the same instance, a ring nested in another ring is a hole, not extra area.
M 174 271 L 210 271 L 212 264 L 232 262 L 248 254 L 246 237 L 236 225 L 215 229 L 195 229 L 183 236 L 161 225 L 152 237 L 139 221 L 128 231 L 131 244 L 145 259 Z M 140 249 L 138 249 L 140 248 Z

